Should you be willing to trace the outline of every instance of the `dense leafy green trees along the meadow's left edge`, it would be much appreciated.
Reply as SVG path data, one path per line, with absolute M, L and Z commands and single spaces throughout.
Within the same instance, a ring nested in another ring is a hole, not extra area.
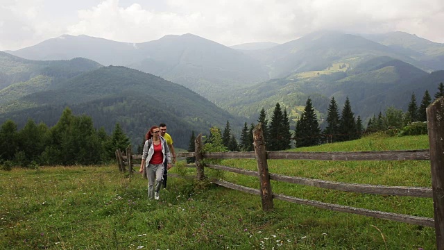
M 94 128 L 92 118 L 63 110 L 51 128 L 28 119 L 21 130 L 8 119 L 0 128 L 0 165 L 37 167 L 39 165 L 96 165 L 115 159 L 115 150 L 130 144 L 121 126 L 111 135 Z

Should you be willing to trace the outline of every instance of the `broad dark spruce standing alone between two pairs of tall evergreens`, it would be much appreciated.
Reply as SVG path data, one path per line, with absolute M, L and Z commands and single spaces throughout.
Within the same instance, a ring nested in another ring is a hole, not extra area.
M 321 142 L 321 128 L 310 98 L 307 99 L 304 111 L 296 122 L 295 138 L 296 147 L 309 147 Z

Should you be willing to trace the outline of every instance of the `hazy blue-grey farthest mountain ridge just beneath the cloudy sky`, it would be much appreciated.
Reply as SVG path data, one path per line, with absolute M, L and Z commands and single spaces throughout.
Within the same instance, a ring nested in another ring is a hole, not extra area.
M 409 39 L 400 39 L 400 36 Z M 250 48 L 259 45 L 271 43 L 239 44 Z M 166 35 L 159 40 L 142 43 L 63 35 L 9 52 L 35 60 L 82 56 L 103 65 L 132 67 L 180 83 L 212 101 L 218 101 L 221 95 L 233 88 L 244 88 L 293 73 L 321 70 L 339 62 L 350 64 L 352 69 L 359 63 L 381 56 L 432 72 L 444 69 L 443 46 L 407 33 L 372 36 L 320 31 L 270 48 L 253 50 L 233 49 L 185 34 Z

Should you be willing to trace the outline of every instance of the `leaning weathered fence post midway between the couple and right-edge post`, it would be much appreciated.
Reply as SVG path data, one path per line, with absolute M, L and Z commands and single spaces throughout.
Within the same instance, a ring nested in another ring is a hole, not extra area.
M 261 123 L 257 124 L 255 129 L 253 129 L 253 140 L 257 161 L 257 172 L 259 173 L 259 181 L 261 183 L 260 192 L 262 199 L 262 210 L 272 210 L 273 192 L 271 192 L 270 174 L 268 173 L 268 163 L 266 162 L 264 131 L 262 131 Z

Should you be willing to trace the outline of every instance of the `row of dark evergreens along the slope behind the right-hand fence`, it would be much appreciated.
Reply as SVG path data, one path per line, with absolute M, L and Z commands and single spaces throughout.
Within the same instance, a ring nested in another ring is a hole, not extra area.
M 438 85 L 438 92 L 434 95 L 435 99 L 444 97 L 444 85 Z M 339 113 L 338 104 L 334 97 L 330 99 L 330 104 L 327 109 L 326 124 L 327 126 L 322 131 L 318 118 L 310 97 L 305 103 L 302 115 L 296 121 L 294 132 L 291 133 L 289 115 L 287 109 L 282 111 L 280 103 L 276 103 L 273 115 L 270 122 L 266 119 L 266 112 L 264 108 L 259 113 L 257 122 L 262 124 L 262 131 L 264 133 L 264 140 L 266 142 L 266 149 L 268 151 L 281 151 L 291 149 L 293 142 L 295 147 L 310 147 L 323 143 L 345 142 L 348 140 L 357 140 L 361 138 L 363 133 L 370 133 L 375 131 L 383 131 L 388 128 L 403 128 L 400 135 L 413 135 L 427 133 L 427 124 L 417 124 L 417 122 L 427 122 L 427 115 L 425 109 L 432 103 L 432 98 L 428 90 L 425 91 L 420 106 L 416 103 L 414 92 L 411 95 L 411 101 L 408 106 L 407 113 L 398 110 L 394 107 L 388 107 L 385 114 L 379 113 L 376 117 L 373 115 L 369 119 L 367 127 L 364 129 L 361 117 L 355 117 L 352 112 L 352 106 L 348 97 Z M 221 151 L 253 151 L 253 129 L 255 124 L 251 123 L 249 126 L 247 122 L 242 128 L 239 142 L 231 131 L 230 122 L 227 121 L 223 132 L 220 128 L 210 128 L 210 135 L 205 139 L 204 143 L 214 144 L 212 138 L 217 135 L 221 138 L 221 143 L 218 145 Z M 189 140 L 188 151 L 194 151 L 194 131 Z M 189 160 L 192 160 L 191 158 Z

